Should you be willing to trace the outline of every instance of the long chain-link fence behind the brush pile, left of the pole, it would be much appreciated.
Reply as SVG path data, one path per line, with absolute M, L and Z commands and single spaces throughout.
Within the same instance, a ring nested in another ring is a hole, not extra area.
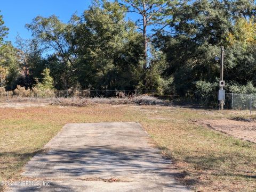
M 0 91 L 0 101 L 9 101 L 17 98 L 88 98 L 88 97 L 118 97 L 125 98 L 147 94 L 155 96 L 155 90 L 16 90 Z

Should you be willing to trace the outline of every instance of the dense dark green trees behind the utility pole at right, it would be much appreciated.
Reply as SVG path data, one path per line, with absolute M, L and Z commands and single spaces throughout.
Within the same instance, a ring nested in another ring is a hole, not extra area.
M 166 54 L 164 76 L 173 77 L 175 93 L 197 99 L 216 95 L 219 62 L 214 57 L 220 56 L 223 45 L 224 79 L 233 84 L 256 84 L 254 9 L 249 1 L 203 0 L 181 2 L 173 10 L 175 35 L 158 35 L 155 44 Z

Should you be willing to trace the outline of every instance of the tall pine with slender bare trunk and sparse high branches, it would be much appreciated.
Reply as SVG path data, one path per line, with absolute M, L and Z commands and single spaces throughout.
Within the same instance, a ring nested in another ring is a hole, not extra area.
M 175 1 L 170 0 L 123 0 L 127 6 L 128 12 L 137 13 L 140 19 L 136 21 L 136 25 L 143 34 L 143 54 L 144 63 L 143 68 L 146 70 L 148 57 L 148 43 L 157 34 L 162 32 L 169 23 L 167 16 L 169 16 L 172 5 Z M 154 28 L 152 33 L 149 33 L 149 28 Z

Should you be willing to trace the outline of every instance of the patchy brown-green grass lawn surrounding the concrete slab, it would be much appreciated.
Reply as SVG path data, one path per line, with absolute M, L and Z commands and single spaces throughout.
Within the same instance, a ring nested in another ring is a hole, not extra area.
M 256 145 L 198 126 L 197 119 L 236 115 L 167 106 L 0 108 L 0 180 L 22 179 L 22 166 L 64 126 L 79 122 L 140 122 L 179 179 L 198 191 L 256 191 Z M 0 189 L 1 190 L 1 189 Z

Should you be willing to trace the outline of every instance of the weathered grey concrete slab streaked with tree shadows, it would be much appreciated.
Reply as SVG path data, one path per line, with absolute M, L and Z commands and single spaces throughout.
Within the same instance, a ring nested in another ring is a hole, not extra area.
M 189 191 L 139 123 L 67 124 L 44 149 L 23 172 L 39 184 L 10 191 Z

